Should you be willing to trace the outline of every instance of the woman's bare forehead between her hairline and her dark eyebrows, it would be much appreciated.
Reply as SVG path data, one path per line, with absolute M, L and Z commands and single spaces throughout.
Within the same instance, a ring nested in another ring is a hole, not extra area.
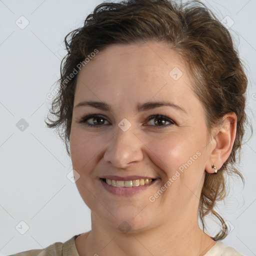
M 76 86 L 75 102 L 92 97 L 113 104 L 117 99 L 186 104 L 194 96 L 182 57 L 162 42 L 107 46 L 81 68 Z

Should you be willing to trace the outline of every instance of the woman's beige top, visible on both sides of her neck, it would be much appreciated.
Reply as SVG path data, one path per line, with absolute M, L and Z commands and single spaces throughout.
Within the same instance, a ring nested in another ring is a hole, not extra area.
M 74 240 L 80 234 L 74 235 L 69 240 L 55 242 L 44 249 L 34 249 L 19 252 L 9 256 L 79 256 Z M 234 248 L 226 246 L 223 242 L 217 241 L 204 256 L 242 256 Z

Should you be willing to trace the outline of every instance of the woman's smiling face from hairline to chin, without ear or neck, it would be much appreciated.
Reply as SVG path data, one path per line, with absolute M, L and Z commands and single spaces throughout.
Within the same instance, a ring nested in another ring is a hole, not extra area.
M 197 219 L 210 144 L 181 57 L 159 42 L 99 51 L 78 75 L 70 152 L 101 226 L 136 232 Z

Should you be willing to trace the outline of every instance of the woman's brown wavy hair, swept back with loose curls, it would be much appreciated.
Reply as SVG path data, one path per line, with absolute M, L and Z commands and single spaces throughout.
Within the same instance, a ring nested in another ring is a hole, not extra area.
M 61 61 L 60 87 L 45 123 L 56 128 L 70 156 L 69 135 L 77 78 L 77 75 L 70 78 L 70 74 L 95 49 L 102 50 L 116 43 L 149 41 L 167 42 L 184 58 L 193 78 L 193 90 L 204 106 L 209 132 L 216 123 L 221 123 L 224 114 L 234 112 L 237 115 L 232 151 L 216 174 L 206 172 L 198 209 L 203 230 L 204 216 L 212 213 L 222 225 L 212 238 L 223 239 L 227 226 L 214 206 L 225 196 L 226 173 L 237 174 L 243 181 L 234 163 L 240 153 L 247 119 L 244 109 L 247 78 L 228 29 L 203 3 L 126 0 L 97 5 L 84 25 L 65 37 L 67 54 Z M 54 120 L 49 115 L 55 117 Z

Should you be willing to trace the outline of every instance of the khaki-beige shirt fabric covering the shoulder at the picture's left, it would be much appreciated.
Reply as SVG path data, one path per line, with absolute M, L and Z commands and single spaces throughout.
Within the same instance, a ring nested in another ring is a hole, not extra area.
M 16 254 L 12 254 L 9 256 L 65 256 L 65 255 L 73 255 L 79 256 L 76 247 L 75 247 L 75 238 L 78 235 L 74 235 L 69 240 L 62 242 L 54 242 L 53 244 L 43 248 L 43 249 L 33 249 L 18 252 Z

